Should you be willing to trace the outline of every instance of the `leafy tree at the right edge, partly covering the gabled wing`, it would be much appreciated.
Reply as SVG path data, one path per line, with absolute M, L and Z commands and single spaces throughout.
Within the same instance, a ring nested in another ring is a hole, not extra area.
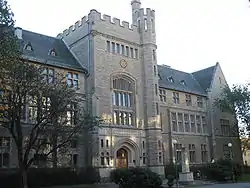
M 250 91 L 249 84 L 233 85 L 232 88 L 224 87 L 221 96 L 215 105 L 222 111 L 235 114 L 239 126 L 240 137 L 248 137 L 250 131 Z M 250 144 L 243 142 L 243 148 L 250 148 Z

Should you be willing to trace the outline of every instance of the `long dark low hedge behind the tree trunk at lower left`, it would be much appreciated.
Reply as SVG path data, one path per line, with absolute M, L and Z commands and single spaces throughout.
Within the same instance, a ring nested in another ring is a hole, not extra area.
M 0 171 L 1 187 L 19 187 L 18 169 Z M 75 171 L 70 168 L 33 168 L 28 171 L 29 188 L 58 185 L 92 184 L 100 181 L 99 172 L 92 167 Z

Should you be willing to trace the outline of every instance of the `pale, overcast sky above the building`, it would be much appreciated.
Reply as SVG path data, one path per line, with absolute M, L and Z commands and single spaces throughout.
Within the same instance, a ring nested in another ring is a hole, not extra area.
M 158 64 L 186 72 L 220 62 L 228 83 L 250 81 L 248 0 L 141 0 L 156 11 Z M 89 10 L 131 23 L 131 0 L 8 0 L 16 26 L 56 36 Z

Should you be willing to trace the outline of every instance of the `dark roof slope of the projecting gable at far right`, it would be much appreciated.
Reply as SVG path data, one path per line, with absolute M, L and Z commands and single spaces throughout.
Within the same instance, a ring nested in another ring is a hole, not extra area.
M 195 79 L 199 82 L 201 87 L 207 91 L 211 87 L 211 83 L 214 78 L 214 72 L 218 63 L 216 65 L 193 72 Z

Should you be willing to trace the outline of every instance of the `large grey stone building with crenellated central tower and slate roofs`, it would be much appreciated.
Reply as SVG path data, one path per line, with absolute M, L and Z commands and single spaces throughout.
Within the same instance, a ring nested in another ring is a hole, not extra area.
M 213 105 L 226 84 L 220 65 L 194 73 L 158 65 L 155 11 L 140 0 L 131 6 L 132 25 L 91 10 L 56 38 L 17 28 L 24 57 L 72 75 L 89 110 L 104 120 L 90 133 L 88 155 L 79 144 L 73 163 L 86 159 L 102 177 L 135 166 L 163 175 L 165 164 L 180 160 L 181 147 L 200 164 L 226 157 L 228 142 L 241 161 L 234 117 Z M 1 166 L 16 164 L 13 157 L 4 165 L 5 158 Z

